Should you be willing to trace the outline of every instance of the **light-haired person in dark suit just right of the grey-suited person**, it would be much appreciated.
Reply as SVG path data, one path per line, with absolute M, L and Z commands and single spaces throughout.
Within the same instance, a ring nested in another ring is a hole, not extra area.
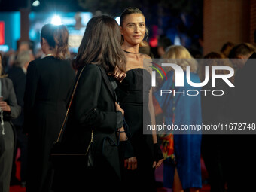
M 26 86 L 26 69 L 29 65 L 29 62 L 34 59 L 31 51 L 25 50 L 21 51 L 17 55 L 17 60 L 14 66 L 8 71 L 8 78 L 11 78 L 14 84 L 14 91 L 17 96 L 17 103 L 21 106 L 22 111 L 17 119 L 12 120 L 14 123 L 16 132 L 17 132 L 17 145 L 14 150 L 14 160 L 13 160 L 13 169 L 11 173 L 11 185 L 21 184 L 25 187 L 26 182 L 26 161 L 27 161 L 27 136 L 23 133 L 23 96 L 25 92 Z M 21 161 L 21 169 L 20 169 L 20 181 L 16 178 L 16 156 L 17 156 L 17 148 L 20 148 L 20 161 Z

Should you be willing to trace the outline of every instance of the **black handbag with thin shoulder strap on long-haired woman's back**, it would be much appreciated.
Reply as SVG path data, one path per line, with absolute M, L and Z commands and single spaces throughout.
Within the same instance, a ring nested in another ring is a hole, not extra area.
M 79 78 L 81 77 L 81 73 L 83 72 L 84 68 L 81 70 L 78 80 L 75 84 L 75 88 L 72 93 L 71 100 L 69 102 L 69 108 L 66 111 L 66 116 L 63 120 L 61 130 L 59 131 L 59 136 L 56 142 L 53 143 L 53 147 L 50 151 L 50 161 L 53 163 L 54 167 L 62 165 L 62 163 L 69 163 L 69 164 L 77 164 L 77 165 L 84 165 L 86 168 L 93 168 L 95 166 L 94 163 L 94 151 L 93 151 L 93 130 L 91 131 L 90 142 L 87 146 L 78 146 L 78 148 L 71 148 L 69 145 L 66 145 L 62 142 L 59 142 L 59 139 L 62 135 L 62 130 L 66 124 L 66 120 L 69 114 L 69 109 L 72 104 L 72 100 L 75 95 L 75 90 L 78 86 Z

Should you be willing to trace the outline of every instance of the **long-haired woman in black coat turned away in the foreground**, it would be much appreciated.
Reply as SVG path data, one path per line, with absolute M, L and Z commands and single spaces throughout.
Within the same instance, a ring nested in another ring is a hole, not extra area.
M 123 131 L 123 110 L 105 75 L 114 75 L 116 68 L 126 72 L 126 58 L 119 26 L 112 17 L 93 17 L 87 23 L 73 66 L 80 78 L 61 142 L 73 150 L 87 148 L 93 130 L 95 166 L 87 169 L 85 162 L 63 163 L 56 170 L 53 190 L 121 191 L 117 131 Z M 120 133 L 120 140 L 125 139 L 125 133 Z

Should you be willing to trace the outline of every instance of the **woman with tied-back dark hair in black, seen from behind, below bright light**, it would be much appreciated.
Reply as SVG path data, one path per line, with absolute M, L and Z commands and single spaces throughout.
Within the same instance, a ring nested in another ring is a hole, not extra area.
M 41 48 L 45 57 L 30 62 L 27 69 L 23 127 L 28 134 L 28 192 L 50 190 L 50 148 L 61 128 L 75 81 L 68 38 L 66 26 L 43 26 Z

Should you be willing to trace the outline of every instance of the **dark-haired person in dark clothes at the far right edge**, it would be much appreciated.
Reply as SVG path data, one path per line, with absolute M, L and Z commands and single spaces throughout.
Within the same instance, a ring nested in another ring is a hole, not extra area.
M 236 134 L 231 142 L 229 191 L 254 191 L 253 160 L 255 153 L 256 123 L 256 53 L 252 44 L 238 44 L 230 51 L 230 58 L 238 67 L 235 75 L 235 95 L 233 97 L 234 123 L 246 123 L 245 134 Z M 247 129 L 250 126 L 251 129 Z M 244 127 L 242 127 L 244 128 Z M 252 130 L 254 129 L 254 130 Z M 236 132 L 238 133 L 238 132 Z M 240 132 L 242 133 L 242 132 Z

